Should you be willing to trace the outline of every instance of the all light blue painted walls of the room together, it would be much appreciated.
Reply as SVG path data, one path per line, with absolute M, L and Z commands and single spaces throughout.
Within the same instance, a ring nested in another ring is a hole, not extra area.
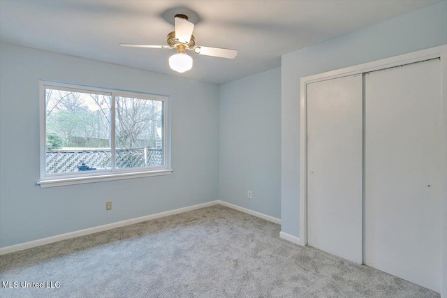
M 285 54 L 281 68 L 219 87 L 1 43 L 0 246 L 217 198 L 281 218 L 283 232 L 299 237 L 300 78 L 446 43 L 442 1 Z M 36 186 L 39 79 L 169 95 L 175 172 Z

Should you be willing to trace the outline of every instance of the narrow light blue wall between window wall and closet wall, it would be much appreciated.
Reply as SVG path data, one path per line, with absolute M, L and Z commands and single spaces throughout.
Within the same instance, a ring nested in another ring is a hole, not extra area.
M 281 218 L 280 131 L 281 68 L 219 85 L 220 200 Z

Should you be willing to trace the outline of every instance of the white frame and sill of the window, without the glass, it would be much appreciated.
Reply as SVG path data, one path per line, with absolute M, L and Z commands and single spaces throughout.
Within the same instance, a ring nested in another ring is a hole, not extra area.
M 37 182 L 41 188 L 52 186 L 65 186 L 71 184 L 85 184 L 99 181 L 110 181 L 118 179 L 140 178 L 149 176 L 159 176 L 171 174 L 170 169 L 170 128 L 169 128 L 169 96 L 140 93 L 134 91 L 124 91 L 118 89 L 107 89 L 99 87 L 82 86 L 78 84 L 66 84 L 61 82 L 44 81 L 40 84 L 40 158 L 41 158 L 41 179 Z M 110 170 L 96 170 L 86 172 L 47 174 L 45 171 L 46 154 L 46 107 L 45 107 L 45 89 L 57 89 L 64 91 L 74 91 L 82 93 L 102 94 L 112 97 L 111 105 L 111 158 L 112 164 Z M 117 169 L 115 166 L 115 102 L 116 97 L 141 98 L 147 100 L 157 100 L 163 102 L 163 158 L 164 165 L 159 167 L 134 167 L 130 169 Z

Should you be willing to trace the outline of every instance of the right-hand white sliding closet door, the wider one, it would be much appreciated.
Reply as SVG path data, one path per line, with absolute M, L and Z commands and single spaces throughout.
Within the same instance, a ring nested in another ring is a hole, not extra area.
M 441 64 L 365 75 L 365 264 L 441 290 Z

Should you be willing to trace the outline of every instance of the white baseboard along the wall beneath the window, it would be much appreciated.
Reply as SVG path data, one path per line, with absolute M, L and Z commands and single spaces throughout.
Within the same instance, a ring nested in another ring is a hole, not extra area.
M 61 240 L 71 239 L 71 238 L 75 238 L 75 237 L 85 236 L 88 234 L 94 234 L 97 232 L 103 232 L 103 231 L 110 230 L 110 229 L 120 228 L 120 227 L 124 227 L 126 225 L 133 225 L 135 223 L 141 223 L 143 221 L 150 221 L 150 220 L 156 219 L 156 218 L 161 218 L 161 217 L 165 217 L 165 216 L 184 213 L 187 211 L 210 207 L 210 206 L 214 206 L 216 204 L 219 204 L 219 200 L 215 200 L 212 202 L 206 202 L 203 204 L 196 204 L 196 205 L 193 205 L 190 207 L 184 207 L 184 208 L 174 209 L 174 210 L 170 210 L 170 211 L 164 211 L 164 212 L 160 212 L 157 214 L 151 214 L 151 215 L 147 215 L 147 216 L 131 218 L 126 221 L 119 221 L 117 223 L 108 223 L 107 225 L 99 225 L 94 228 L 87 228 L 87 229 L 78 230 L 75 232 L 68 232 L 66 234 L 59 234 L 56 236 L 47 237 L 47 238 L 43 238 L 43 239 L 37 239 L 34 241 L 22 243 L 22 244 L 6 246 L 6 247 L 0 248 L 0 255 L 4 255 L 6 253 L 13 253 L 15 251 L 23 251 L 24 249 L 33 248 L 36 246 L 43 246 L 45 244 L 50 244 L 50 243 L 61 241 Z

